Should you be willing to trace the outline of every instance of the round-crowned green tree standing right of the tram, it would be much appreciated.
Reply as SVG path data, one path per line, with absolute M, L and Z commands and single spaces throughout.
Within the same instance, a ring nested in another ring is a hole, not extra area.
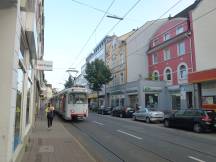
M 85 79 L 88 81 L 88 86 L 91 90 L 97 92 L 97 102 L 99 107 L 99 91 L 103 85 L 109 83 L 112 78 L 112 73 L 104 61 L 96 59 L 86 65 Z

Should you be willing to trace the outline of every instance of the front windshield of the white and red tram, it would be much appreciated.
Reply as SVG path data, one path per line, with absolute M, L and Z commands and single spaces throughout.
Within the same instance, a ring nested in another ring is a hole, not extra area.
M 71 93 L 69 95 L 69 104 L 87 104 L 87 96 L 83 93 Z

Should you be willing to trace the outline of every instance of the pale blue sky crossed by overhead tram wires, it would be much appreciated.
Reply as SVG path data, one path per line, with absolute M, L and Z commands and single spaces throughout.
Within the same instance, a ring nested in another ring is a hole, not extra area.
M 68 78 L 66 70 L 80 71 L 86 56 L 105 35 L 127 33 L 146 21 L 160 18 L 176 4 L 163 18 L 174 16 L 194 0 L 140 0 L 135 6 L 136 2 L 138 0 L 46 0 L 44 60 L 53 61 L 53 71 L 45 72 L 48 83 L 62 89 Z M 112 30 L 118 20 L 106 16 L 102 19 L 107 10 L 107 15 L 118 17 L 130 12 Z

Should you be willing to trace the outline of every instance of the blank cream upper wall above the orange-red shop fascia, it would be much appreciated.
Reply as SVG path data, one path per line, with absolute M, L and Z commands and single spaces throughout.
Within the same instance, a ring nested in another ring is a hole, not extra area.
M 196 70 L 216 68 L 216 1 L 202 0 L 192 11 Z

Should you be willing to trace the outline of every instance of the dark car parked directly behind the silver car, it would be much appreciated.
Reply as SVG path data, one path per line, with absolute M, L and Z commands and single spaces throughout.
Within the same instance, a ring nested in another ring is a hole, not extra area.
M 111 115 L 121 118 L 131 118 L 133 113 L 134 108 L 132 107 L 116 106 L 112 109 Z

